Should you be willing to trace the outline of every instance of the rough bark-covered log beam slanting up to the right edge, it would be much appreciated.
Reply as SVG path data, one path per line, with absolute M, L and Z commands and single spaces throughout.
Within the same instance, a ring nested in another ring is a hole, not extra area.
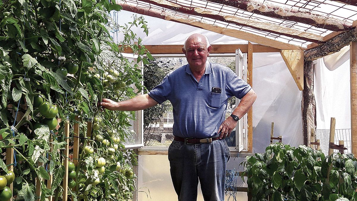
M 325 57 L 326 55 L 340 51 L 344 46 L 349 45 L 351 41 L 357 41 L 357 29 L 346 31 L 323 45 L 306 50 L 304 59 L 305 61 L 313 61 Z

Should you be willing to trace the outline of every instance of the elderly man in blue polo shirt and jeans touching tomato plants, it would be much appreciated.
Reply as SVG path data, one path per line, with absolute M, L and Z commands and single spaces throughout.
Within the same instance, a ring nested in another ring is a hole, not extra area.
M 130 100 L 100 103 L 110 110 L 137 111 L 170 100 L 174 113 L 174 141 L 169 147 L 172 183 L 179 201 L 197 200 L 197 185 L 205 201 L 224 201 L 225 141 L 256 99 L 253 89 L 231 69 L 207 62 L 212 47 L 206 36 L 189 36 L 182 52 L 188 64 L 170 72 L 149 94 Z M 230 97 L 241 99 L 225 119 Z

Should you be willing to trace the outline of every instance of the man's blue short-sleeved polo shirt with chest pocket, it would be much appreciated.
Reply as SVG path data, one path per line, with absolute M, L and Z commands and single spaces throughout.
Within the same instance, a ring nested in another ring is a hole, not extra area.
M 212 93 L 219 87 L 222 93 Z M 200 82 L 193 76 L 190 65 L 170 72 L 149 92 L 158 103 L 170 100 L 174 114 L 174 136 L 206 138 L 216 136 L 225 120 L 228 98 L 241 99 L 251 89 L 230 68 L 206 63 Z

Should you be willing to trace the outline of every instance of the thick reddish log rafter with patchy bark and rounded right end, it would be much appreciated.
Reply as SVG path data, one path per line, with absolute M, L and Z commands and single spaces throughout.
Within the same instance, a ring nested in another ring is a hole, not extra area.
M 311 11 L 301 11 L 293 8 L 279 7 L 274 4 L 261 3 L 255 0 L 207 0 L 214 3 L 232 6 L 251 13 L 265 15 L 272 18 L 285 19 L 298 23 L 309 24 L 318 28 L 332 31 L 352 29 L 352 23 L 323 16 Z

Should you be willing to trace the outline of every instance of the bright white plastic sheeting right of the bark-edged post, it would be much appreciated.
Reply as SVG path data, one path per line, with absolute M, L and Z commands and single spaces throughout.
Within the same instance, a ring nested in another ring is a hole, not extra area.
M 331 71 L 332 70 L 332 71 Z M 351 128 L 350 48 L 318 59 L 314 66 L 317 129 Z

